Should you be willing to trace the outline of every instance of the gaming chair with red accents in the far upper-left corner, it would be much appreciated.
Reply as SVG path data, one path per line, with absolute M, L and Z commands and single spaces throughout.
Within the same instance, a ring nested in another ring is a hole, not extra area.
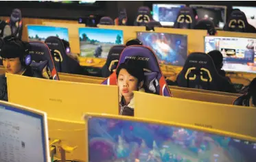
M 21 39 L 22 29 L 23 29 L 21 10 L 19 10 L 17 8 L 12 10 L 10 19 L 7 20 L 6 23 L 8 23 L 11 27 L 12 36 L 15 36 L 15 37 Z

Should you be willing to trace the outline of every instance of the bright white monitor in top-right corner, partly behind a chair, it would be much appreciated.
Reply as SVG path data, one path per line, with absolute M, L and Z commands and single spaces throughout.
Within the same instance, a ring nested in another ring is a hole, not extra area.
M 233 6 L 232 8 L 244 12 L 248 23 L 256 28 L 256 7 Z

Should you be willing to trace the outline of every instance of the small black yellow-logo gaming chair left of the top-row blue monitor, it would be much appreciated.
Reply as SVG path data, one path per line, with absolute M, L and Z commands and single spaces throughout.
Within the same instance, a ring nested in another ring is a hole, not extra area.
M 135 26 L 145 26 L 146 23 L 152 20 L 152 15 L 150 14 L 150 8 L 146 6 L 141 6 L 138 9 L 137 16 L 135 18 Z

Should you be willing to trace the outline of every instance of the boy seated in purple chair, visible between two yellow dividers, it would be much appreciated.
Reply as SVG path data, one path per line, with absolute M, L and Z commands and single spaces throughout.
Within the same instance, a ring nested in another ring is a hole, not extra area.
M 116 71 L 117 85 L 119 87 L 120 114 L 134 115 L 133 91 L 145 92 L 143 88 L 144 72 L 139 62 L 135 59 L 126 59 Z

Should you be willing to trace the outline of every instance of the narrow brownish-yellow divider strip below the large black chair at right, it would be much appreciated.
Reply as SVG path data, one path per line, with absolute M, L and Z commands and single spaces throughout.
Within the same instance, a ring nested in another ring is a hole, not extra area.
M 172 89 L 172 96 L 175 98 L 183 98 L 188 100 L 198 100 L 209 103 L 221 103 L 233 105 L 234 100 L 237 98 L 236 96 L 224 96 L 219 94 L 207 94 L 203 92 L 192 92 L 185 90 L 175 90 Z

